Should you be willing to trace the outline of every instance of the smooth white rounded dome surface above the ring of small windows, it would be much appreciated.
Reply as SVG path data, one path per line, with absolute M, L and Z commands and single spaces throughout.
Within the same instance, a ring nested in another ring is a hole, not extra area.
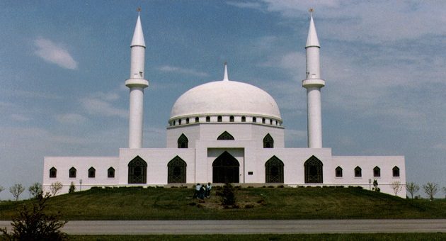
M 186 91 L 173 104 L 171 119 L 184 116 L 242 115 L 282 120 L 278 104 L 256 86 L 222 80 Z

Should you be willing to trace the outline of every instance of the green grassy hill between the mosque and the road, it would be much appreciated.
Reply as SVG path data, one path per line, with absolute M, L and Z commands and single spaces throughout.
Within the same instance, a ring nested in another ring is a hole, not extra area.
M 403 199 L 358 188 L 238 188 L 238 208 L 220 197 L 200 202 L 193 189 L 91 189 L 50 198 L 47 211 L 67 220 L 446 218 L 446 200 Z M 33 201 L 3 201 L 0 220 Z

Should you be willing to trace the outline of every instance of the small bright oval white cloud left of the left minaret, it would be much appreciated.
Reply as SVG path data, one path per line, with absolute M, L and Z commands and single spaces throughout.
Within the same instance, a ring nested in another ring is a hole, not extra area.
M 77 62 L 72 55 L 64 48 L 64 46 L 54 43 L 45 38 L 38 38 L 34 40 L 35 54 L 43 60 L 59 65 L 59 67 L 66 69 L 77 69 Z

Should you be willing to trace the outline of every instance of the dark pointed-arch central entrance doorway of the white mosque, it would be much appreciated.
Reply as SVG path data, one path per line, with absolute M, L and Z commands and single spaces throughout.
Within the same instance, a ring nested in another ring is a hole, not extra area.
M 239 161 L 235 159 L 229 152 L 223 152 L 212 163 L 212 182 L 239 183 Z

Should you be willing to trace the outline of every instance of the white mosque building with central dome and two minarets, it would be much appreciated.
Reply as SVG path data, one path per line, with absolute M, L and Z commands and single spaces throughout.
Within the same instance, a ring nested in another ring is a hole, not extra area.
M 307 45 L 308 147 L 285 148 L 285 128 L 278 104 L 251 84 L 208 82 L 181 95 L 171 109 L 166 148 L 143 148 L 144 35 L 138 16 L 131 43 L 129 147 L 118 157 L 45 157 L 43 186 L 59 181 L 92 186 L 164 186 L 212 182 L 246 186 L 362 186 L 374 179 L 382 192 L 406 183 L 404 156 L 333 156 L 322 147 L 319 40 L 313 17 Z M 151 101 L 153 102 L 153 101 Z M 406 189 L 398 196 L 406 197 Z

